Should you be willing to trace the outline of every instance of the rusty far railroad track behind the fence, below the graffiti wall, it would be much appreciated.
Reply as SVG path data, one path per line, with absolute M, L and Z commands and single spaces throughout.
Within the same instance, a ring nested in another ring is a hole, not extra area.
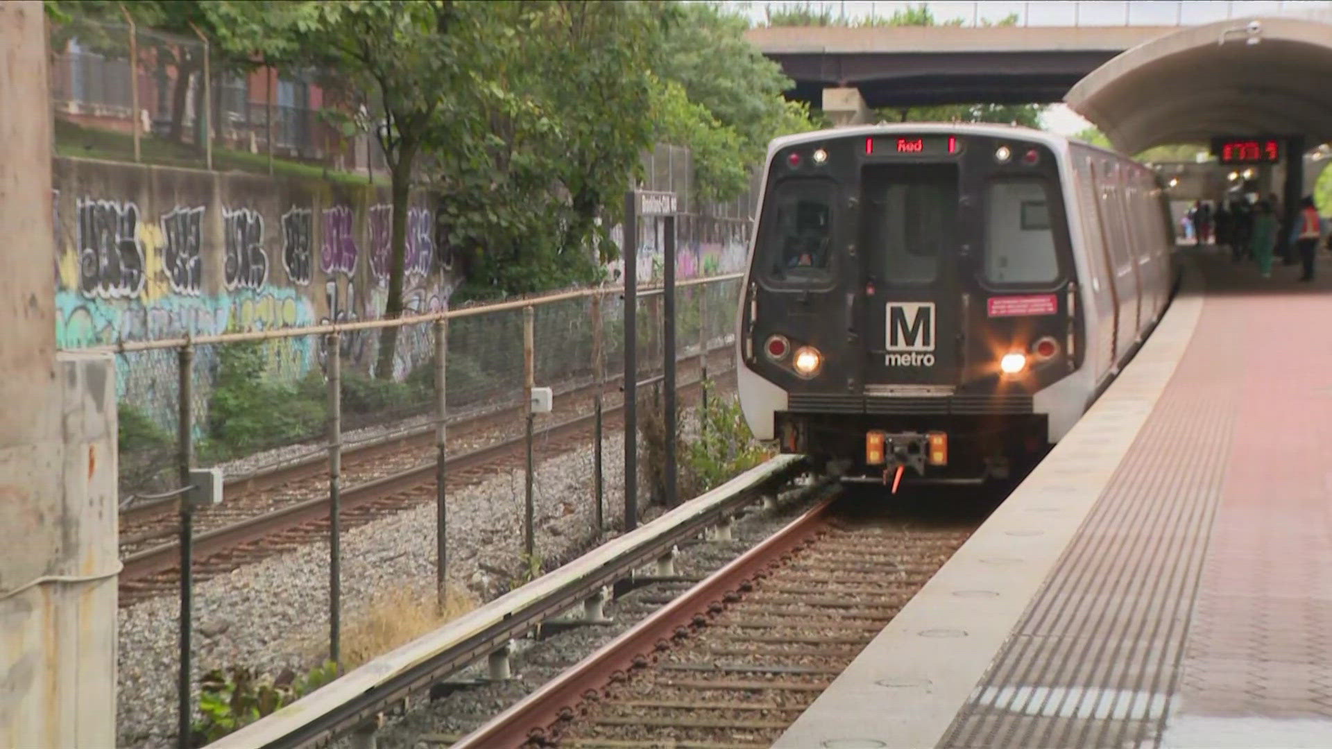
M 727 376 L 730 377 L 730 376 Z M 711 377 L 710 377 L 711 378 Z M 689 402 L 699 392 L 694 380 L 681 388 L 682 402 Z M 603 409 L 603 428 L 607 432 L 622 426 L 622 405 Z M 542 445 L 543 457 L 562 454 L 586 445 L 593 436 L 595 414 L 587 413 L 546 426 L 534 434 Z M 433 445 L 433 434 L 430 437 Z M 348 485 L 341 493 L 340 520 L 342 529 L 370 522 L 378 517 L 434 501 L 436 466 L 434 448 L 406 450 L 406 457 L 392 465 L 409 466 L 372 480 Z M 381 461 L 386 460 L 381 454 Z M 478 484 L 497 472 L 525 465 L 525 437 L 492 442 L 469 452 L 452 454 L 446 460 L 448 490 L 457 492 Z M 269 556 L 294 550 L 305 544 L 328 538 L 329 500 L 326 477 L 321 477 L 313 496 L 280 504 L 276 509 L 246 514 L 244 510 L 226 514 L 217 512 L 210 529 L 193 538 L 192 572 L 196 581 L 225 574 L 238 566 L 261 561 Z M 290 497 L 290 494 L 288 494 Z M 225 502 L 222 505 L 225 508 Z M 226 522 L 226 518 L 232 518 Z M 120 605 L 129 606 L 145 598 L 173 593 L 180 585 L 180 546 L 174 541 L 141 548 L 121 558 Z

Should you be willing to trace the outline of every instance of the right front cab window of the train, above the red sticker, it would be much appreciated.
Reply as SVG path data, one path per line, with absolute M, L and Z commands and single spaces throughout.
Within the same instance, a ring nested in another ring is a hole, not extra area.
M 1059 279 L 1050 188 L 1036 180 L 996 180 L 986 191 L 986 280 L 1048 284 Z

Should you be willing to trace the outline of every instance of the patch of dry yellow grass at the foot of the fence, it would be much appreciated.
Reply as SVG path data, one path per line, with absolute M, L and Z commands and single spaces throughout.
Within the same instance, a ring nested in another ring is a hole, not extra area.
M 470 592 L 452 586 L 442 613 L 436 609 L 434 590 L 388 590 L 374 600 L 364 617 L 344 629 L 342 666 L 354 669 L 476 608 Z

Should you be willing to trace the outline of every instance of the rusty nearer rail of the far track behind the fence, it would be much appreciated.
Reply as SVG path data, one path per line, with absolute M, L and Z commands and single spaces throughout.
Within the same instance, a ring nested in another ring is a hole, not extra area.
M 701 386 L 701 380 L 694 380 L 685 384 L 681 390 L 693 390 Z M 622 405 L 607 408 L 602 412 L 602 417 L 610 417 L 619 410 Z M 537 430 L 533 438 L 550 438 L 562 437 L 565 434 L 577 432 L 578 429 L 590 426 L 597 418 L 595 413 L 587 413 L 583 416 L 575 416 L 567 418 L 558 424 L 551 424 Z M 485 464 L 502 456 L 506 452 L 518 450 L 526 441 L 526 436 L 519 434 L 510 440 L 501 442 L 493 442 L 474 450 L 468 450 L 465 453 L 456 454 L 445 460 L 445 466 L 449 473 L 457 473 L 472 468 L 478 464 Z M 373 481 L 366 481 L 357 486 L 349 486 L 342 490 L 342 509 L 354 508 L 357 505 L 374 501 L 380 497 L 394 494 L 422 484 L 429 484 L 436 477 L 434 461 L 422 462 L 414 468 L 401 470 L 392 476 L 385 476 L 382 478 L 376 478 Z M 272 512 L 257 514 L 249 517 L 240 522 L 225 525 L 222 528 L 214 528 L 206 533 L 200 533 L 194 536 L 194 558 L 204 560 L 212 554 L 216 554 L 224 549 L 238 546 L 241 544 L 248 544 L 256 541 L 265 536 L 270 536 L 282 530 L 285 528 L 292 528 L 304 522 L 320 520 L 328 516 L 329 512 L 329 498 L 328 496 L 314 497 L 312 500 L 305 500 L 304 502 L 296 502 L 285 508 L 280 508 Z M 127 556 L 124 560 L 124 569 L 120 573 L 120 581 L 135 581 L 152 574 L 166 572 L 178 566 L 180 564 L 180 545 L 174 541 L 160 544 L 151 549 L 144 549 L 133 554 Z

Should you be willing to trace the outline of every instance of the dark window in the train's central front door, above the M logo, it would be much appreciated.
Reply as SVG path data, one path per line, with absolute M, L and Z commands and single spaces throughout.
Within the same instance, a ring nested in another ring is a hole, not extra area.
M 867 167 L 863 185 L 871 275 L 888 284 L 932 283 L 956 237 L 958 167 Z

